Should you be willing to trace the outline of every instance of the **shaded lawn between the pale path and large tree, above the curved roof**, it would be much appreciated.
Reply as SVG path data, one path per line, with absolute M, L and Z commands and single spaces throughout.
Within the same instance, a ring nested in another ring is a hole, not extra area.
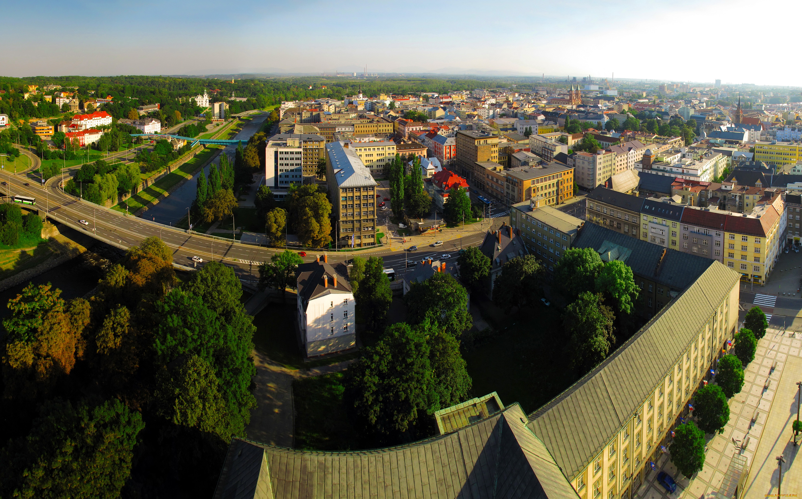
M 334 372 L 293 382 L 295 448 L 346 451 L 363 448 L 342 394 L 345 375 Z

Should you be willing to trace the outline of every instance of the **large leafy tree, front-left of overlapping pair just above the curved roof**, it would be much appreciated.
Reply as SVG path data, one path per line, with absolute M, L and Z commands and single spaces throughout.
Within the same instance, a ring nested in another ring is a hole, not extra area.
M 387 327 L 347 371 L 346 399 L 363 425 L 379 436 L 399 436 L 430 407 L 430 348 L 406 323 Z

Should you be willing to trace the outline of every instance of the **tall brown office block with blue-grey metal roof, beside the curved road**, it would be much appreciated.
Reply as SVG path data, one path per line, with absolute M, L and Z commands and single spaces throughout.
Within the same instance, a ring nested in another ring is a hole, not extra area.
M 342 142 L 326 144 L 326 181 L 338 248 L 375 245 L 378 184 L 354 148 Z

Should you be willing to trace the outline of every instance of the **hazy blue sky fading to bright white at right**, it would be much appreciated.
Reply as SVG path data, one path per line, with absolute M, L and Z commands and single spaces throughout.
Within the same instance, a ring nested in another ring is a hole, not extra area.
M 802 13 L 798 1 L 75 0 L 65 9 L 43 0 L 0 12 L 3 76 L 333 73 L 367 64 L 369 72 L 802 85 L 802 65 L 781 50 L 788 38 L 736 27 L 772 30 Z

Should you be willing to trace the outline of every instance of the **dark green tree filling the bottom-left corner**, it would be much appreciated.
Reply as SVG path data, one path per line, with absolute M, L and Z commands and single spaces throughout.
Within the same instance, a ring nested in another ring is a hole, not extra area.
M 47 402 L 27 436 L 0 451 L 3 497 L 119 497 L 144 428 L 119 400 Z

